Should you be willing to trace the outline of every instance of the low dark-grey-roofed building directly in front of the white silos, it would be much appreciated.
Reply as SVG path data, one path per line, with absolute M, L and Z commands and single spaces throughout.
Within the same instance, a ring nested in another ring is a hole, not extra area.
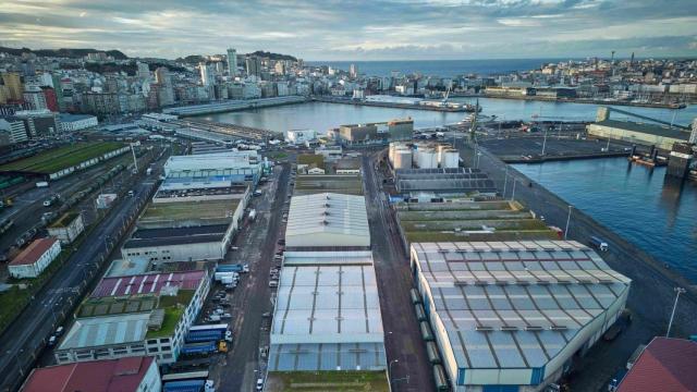
M 492 180 L 479 169 L 399 169 L 396 193 L 404 198 L 465 197 L 473 194 L 496 195 Z

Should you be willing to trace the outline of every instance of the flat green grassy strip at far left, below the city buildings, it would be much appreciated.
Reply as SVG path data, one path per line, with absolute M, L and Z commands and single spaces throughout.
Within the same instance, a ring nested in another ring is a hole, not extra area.
M 124 146 L 117 142 L 78 143 L 0 166 L 0 172 L 56 173 Z

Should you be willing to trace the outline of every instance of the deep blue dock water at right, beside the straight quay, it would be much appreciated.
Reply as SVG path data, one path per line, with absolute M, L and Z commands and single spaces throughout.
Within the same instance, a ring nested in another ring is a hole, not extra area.
M 697 283 L 694 182 L 665 181 L 664 167 L 650 169 L 625 158 L 513 167 Z

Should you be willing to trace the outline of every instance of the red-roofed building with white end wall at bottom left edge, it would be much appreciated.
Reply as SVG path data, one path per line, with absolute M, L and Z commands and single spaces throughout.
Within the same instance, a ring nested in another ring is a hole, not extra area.
M 160 370 L 151 356 L 90 360 L 34 368 L 21 392 L 159 392 Z

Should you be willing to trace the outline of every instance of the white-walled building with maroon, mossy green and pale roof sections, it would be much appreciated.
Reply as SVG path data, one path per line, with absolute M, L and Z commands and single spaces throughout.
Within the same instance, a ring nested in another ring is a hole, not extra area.
M 102 278 L 56 350 L 59 364 L 150 355 L 176 360 L 210 290 L 204 270 Z

